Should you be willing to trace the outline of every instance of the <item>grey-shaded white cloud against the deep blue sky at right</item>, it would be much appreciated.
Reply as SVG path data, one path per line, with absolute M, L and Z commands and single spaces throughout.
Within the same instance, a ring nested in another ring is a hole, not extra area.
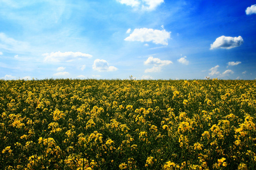
M 238 37 L 218 37 L 213 44 L 210 44 L 210 49 L 224 48 L 230 49 L 235 48 L 243 44 L 243 39 L 241 36 Z

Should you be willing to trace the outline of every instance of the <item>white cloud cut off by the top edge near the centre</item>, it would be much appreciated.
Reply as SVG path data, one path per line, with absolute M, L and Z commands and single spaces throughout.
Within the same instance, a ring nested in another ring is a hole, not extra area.
M 135 8 L 141 7 L 142 10 L 152 11 L 155 10 L 156 7 L 161 5 L 164 0 L 117 0 L 117 2 Z

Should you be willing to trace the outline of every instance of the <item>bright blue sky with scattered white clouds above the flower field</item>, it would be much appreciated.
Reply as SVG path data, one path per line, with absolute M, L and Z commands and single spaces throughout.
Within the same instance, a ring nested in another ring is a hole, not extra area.
M 1 79 L 255 79 L 255 1 L 0 0 Z

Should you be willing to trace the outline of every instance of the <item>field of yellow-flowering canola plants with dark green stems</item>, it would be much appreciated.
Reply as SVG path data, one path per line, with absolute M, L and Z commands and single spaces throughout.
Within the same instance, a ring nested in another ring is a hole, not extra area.
M 0 84 L 0 169 L 256 169 L 255 80 Z

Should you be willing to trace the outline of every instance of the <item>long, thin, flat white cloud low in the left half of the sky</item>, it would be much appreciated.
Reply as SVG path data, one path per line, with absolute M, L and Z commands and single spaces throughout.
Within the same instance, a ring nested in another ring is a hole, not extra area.
M 81 52 L 55 52 L 55 53 L 44 53 L 43 56 L 46 56 L 44 58 L 44 61 L 46 62 L 61 62 L 61 61 L 73 61 L 75 58 L 91 58 L 92 55 L 90 54 L 85 54 Z

